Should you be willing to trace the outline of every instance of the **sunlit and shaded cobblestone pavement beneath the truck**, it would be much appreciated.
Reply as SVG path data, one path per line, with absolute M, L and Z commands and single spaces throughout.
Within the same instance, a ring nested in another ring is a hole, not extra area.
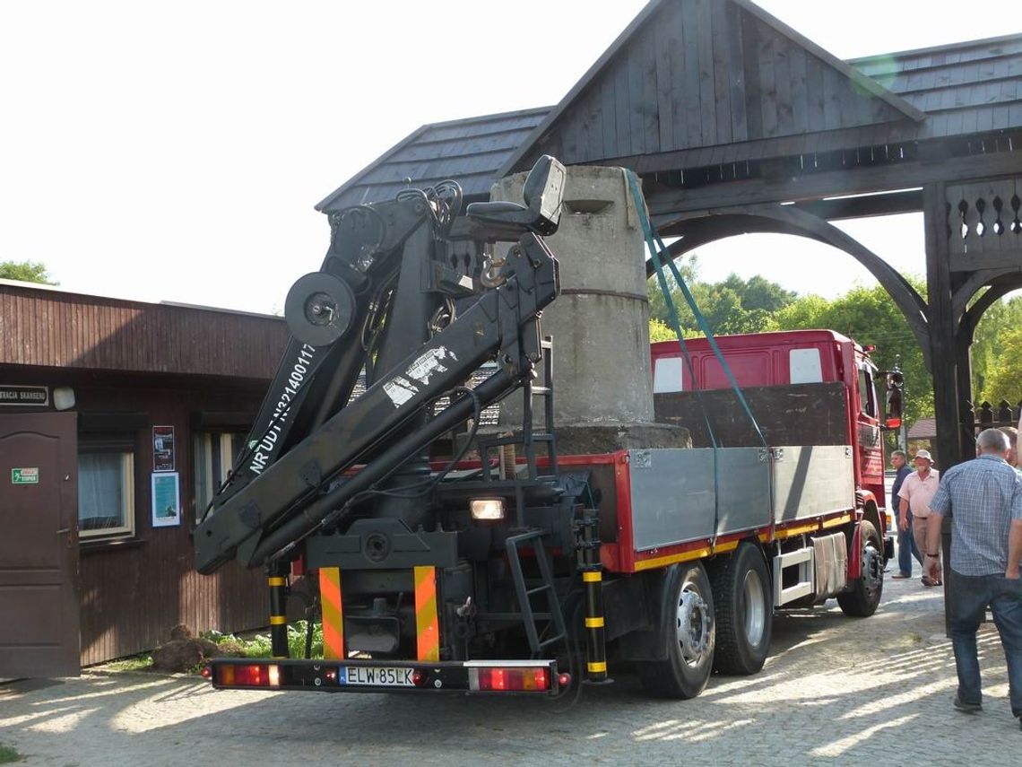
M 979 643 L 984 711 L 968 716 L 951 709 L 940 590 L 888 580 L 873 618 L 778 617 L 765 668 L 715 677 L 694 701 L 645 697 L 626 675 L 567 705 L 218 692 L 194 677 L 86 672 L 0 685 L 0 743 L 28 765 L 1019 764 L 992 626 Z

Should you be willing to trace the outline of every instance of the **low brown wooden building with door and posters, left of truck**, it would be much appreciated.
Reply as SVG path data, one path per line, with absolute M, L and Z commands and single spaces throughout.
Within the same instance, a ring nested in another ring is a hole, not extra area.
M 193 571 L 282 319 L 0 281 L 0 677 L 267 624 L 260 572 Z

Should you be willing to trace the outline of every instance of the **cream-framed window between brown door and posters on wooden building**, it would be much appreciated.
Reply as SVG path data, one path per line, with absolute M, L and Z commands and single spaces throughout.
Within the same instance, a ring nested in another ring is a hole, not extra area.
M 78 526 L 81 538 L 135 533 L 135 456 L 131 451 L 90 451 L 78 456 Z

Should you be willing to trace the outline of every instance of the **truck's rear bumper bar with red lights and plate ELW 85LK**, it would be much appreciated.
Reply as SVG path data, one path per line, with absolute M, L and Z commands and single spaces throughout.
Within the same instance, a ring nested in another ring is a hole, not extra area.
M 571 683 L 557 662 L 540 661 L 306 661 L 218 658 L 202 676 L 217 689 L 313 692 L 461 692 L 556 696 Z

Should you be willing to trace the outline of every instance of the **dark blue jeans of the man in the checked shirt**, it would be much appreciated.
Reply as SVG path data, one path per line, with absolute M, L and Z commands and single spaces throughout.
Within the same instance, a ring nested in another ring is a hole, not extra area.
M 1003 575 L 964 576 L 953 570 L 950 585 L 951 645 L 959 700 L 968 704 L 983 702 L 976 630 L 989 606 L 1008 662 L 1012 714 L 1022 717 L 1022 580 L 1010 581 Z

